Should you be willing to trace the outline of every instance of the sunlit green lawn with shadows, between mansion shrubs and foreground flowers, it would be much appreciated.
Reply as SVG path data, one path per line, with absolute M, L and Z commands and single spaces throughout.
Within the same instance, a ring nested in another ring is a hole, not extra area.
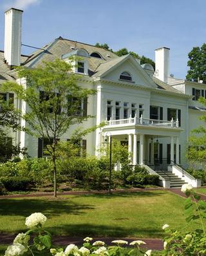
M 1 199 L 0 232 L 25 231 L 25 218 L 40 211 L 53 235 L 163 237 L 165 223 L 194 228 L 185 222 L 183 202 L 167 191 Z

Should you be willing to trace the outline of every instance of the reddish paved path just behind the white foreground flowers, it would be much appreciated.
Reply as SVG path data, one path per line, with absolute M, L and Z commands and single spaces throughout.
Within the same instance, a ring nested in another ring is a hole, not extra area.
M 14 240 L 15 235 L 8 235 L 8 234 L 0 234 L 0 244 L 11 244 Z M 53 237 L 52 241 L 53 244 L 65 247 L 68 244 L 76 244 L 77 246 L 81 246 L 83 243 L 84 237 Z M 107 245 L 112 245 L 112 240 L 123 239 L 128 242 L 133 240 L 144 240 L 146 243 L 142 248 L 152 249 L 152 250 L 162 250 L 163 249 L 163 241 L 161 239 L 127 239 L 127 238 L 117 238 L 117 237 L 94 237 L 93 242 L 96 240 L 102 240 L 106 242 Z M 114 245 L 114 244 L 113 244 Z

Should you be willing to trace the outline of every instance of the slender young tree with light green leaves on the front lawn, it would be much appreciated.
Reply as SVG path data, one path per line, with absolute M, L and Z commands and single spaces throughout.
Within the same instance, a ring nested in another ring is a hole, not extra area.
M 7 81 L 3 86 L 6 91 L 15 92 L 29 109 L 26 113 L 19 111 L 19 118 L 26 121 L 26 127 L 21 129 L 49 142 L 47 151 L 53 163 L 53 195 L 57 197 L 58 141 L 71 125 L 91 118 L 82 111 L 80 103 L 87 102 L 88 96 L 95 94 L 95 91 L 79 87 L 79 76 L 70 72 L 71 64 L 59 59 L 44 62 L 36 69 L 19 67 L 17 71 L 18 78 L 26 82 L 19 85 Z

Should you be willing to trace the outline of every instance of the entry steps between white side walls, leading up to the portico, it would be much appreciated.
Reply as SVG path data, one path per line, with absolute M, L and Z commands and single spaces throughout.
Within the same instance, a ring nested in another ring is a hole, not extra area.
M 162 170 L 155 170 L 158 175 L 162 176 L 162 178 L 170 180 L 170 187 L 171 188 L 180 188 L 183 184 L 186 184 L 185 180 L 179 178 L 177 175 L 172 173 L 171 171 L 162 171 Z

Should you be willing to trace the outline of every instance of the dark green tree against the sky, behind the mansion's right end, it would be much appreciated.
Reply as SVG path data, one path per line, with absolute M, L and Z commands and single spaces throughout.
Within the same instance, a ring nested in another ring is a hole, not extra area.
M 206 44 L 203 43 L 201 47 L 193 47 L 188 57 L 189 70 L 186 79 L 189 81 L 203 80 L 203 83 L 206 83 Z

